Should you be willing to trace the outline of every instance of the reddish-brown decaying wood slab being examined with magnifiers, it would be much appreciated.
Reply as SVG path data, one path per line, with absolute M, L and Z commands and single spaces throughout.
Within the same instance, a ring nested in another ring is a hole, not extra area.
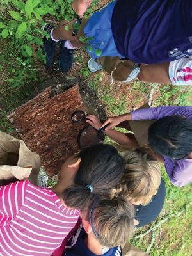
M 73 86 L 65 92 L 50 98 L 51 87 L 39 93 L 26 104 L 14 109 L 8 119 L 19 133 L 28 148 L 37 152 L 42 166 L 52 176 L 61 168 L 68 156 L 79 151 L 77 134 L 87 125 L 71 122 L 76 110 L 99 115 L 98 109 L 83 102 L 79 86 Z

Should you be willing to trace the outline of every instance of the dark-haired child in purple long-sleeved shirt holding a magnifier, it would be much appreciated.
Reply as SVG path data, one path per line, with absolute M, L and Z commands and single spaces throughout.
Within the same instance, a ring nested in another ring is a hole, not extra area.
M 108 129 L 121 122 L 146 119 L 157 120 L 149 129 L 148 141 L 161 154 L 159 160 L 164 162 L 170 182 L 179 187 L 192 182 L 192 107 L 159 106 L 137 109 L 108 118 L 103 125 L 111 123 L 106 128 L 108 132 Z

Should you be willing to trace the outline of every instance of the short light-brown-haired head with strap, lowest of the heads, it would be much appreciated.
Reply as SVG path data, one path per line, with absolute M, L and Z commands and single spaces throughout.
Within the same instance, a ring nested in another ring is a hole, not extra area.
M 102 246 L 124 244 L 134 231 L 134 206 L 123 196 L 93 201 L 88 216 L 82 216 L 84 230 Z

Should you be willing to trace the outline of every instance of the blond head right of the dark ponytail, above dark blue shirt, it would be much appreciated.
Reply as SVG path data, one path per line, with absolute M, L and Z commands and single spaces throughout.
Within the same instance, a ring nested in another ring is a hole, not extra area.
M 124 195 L 132 204 L 148 204 L 161 183 L 159 164 L 141 148 L 125 152 L 123 158 L 125 173 L 116 193 Z

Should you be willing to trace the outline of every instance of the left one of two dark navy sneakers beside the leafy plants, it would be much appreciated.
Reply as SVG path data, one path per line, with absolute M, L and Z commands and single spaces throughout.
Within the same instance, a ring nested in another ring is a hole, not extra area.
M 54 26 L 46 23 L 44 27 L 42 27 L 42 31 L 47 31 L 50 33 L 52 28 L 54 28 Z M 60 44 L 60 41 L 56 42 L 51 38 L 47 39 L 46 36 L 44 36 L 44 45 L 42 47 L 42 51 L 43 51 L 43 54 L 45 55 L 47 66 L 50 66 L 52 64 L 54 60 L 55 47 Z

